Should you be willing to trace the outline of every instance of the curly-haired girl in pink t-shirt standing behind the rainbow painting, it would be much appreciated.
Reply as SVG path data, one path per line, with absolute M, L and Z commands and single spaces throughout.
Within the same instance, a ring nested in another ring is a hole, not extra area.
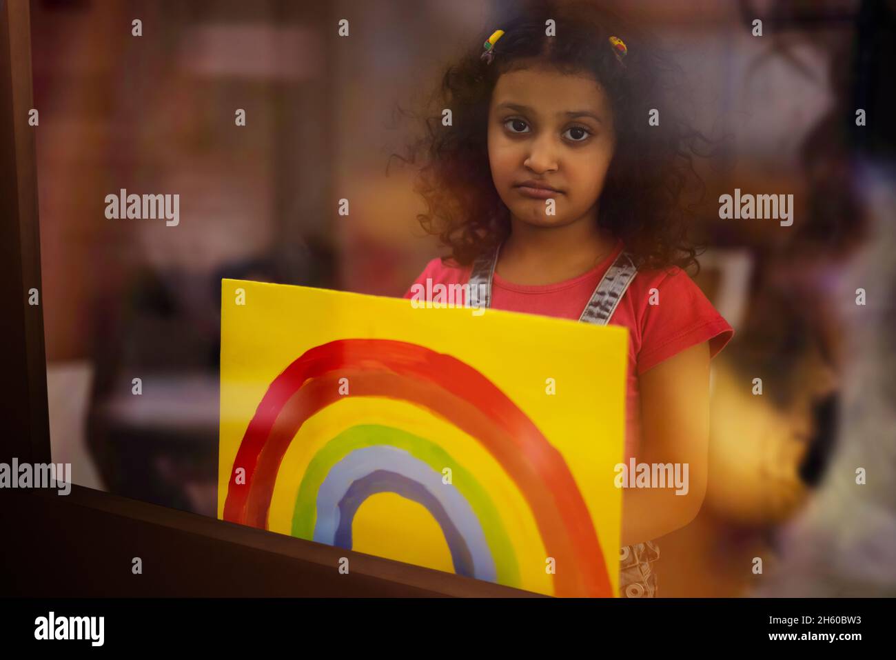
M 451 250 L 415 283 L 469 282 L 492 308 L 629 329 L 625 465 L 688 465 L 684 496 L 624 491 L 620 594 L 656 595 L 652 540 L 700 508 L 710 360 L 734 334 L 683 270 L 698 134 L 664 104 L 666 67 L 593 4 L 538 3 L 490 27 L 444 74 L 440 117 L 411 150 L 426 156 L 420 220 Z

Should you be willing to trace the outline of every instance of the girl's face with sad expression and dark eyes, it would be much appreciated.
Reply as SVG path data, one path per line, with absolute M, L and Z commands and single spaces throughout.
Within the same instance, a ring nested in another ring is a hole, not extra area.
M 503 74 L 495 84 L 488 161 L 498 195 L 517 221 L 558 227 L 596 219 L 615 146 L 610 101 L 594 78 L 536 65 Z

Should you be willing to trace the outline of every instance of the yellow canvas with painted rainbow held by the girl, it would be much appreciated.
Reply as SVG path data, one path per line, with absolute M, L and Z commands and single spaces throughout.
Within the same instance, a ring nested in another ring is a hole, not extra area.
M 218 516 L 617 595 L 627 342 L 618 326 L 223 280 Z

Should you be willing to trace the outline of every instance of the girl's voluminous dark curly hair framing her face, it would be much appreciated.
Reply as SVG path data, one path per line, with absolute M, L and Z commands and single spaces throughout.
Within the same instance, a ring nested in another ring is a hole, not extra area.
M 470 48 L 447 67 L 425 111 L 404 112 L 421 121 L 422 135 L 409 144 L 406 155 L 392 154 L 418 169 L 415 190 L 428 207 L 418 221 L 451 248 L 444 261 L 468 265 L 510 233 L 510 212 L 489 169 L 488 109 L 501 74 L 534 59 L 563 74 L 592 74 L 611 100 L 616 153 L 600 197 L 599 225 L 623 240 L 639 268 L 695 264 L 699 271 L 698 252 L 686 238 L 694 204 L 687 204 L 685 196 L 696 189 L 701 196 L 704 192 L 692 154 L 699 143 L 711 142 L 688 126 L 670 100 L 680 70 L 594 3 L 538 0 L 516 5 L 514 13 L 470 39 Z M 556 37 L 545 34 L 548 19 L 556 22 Z M 504 36 L 488 65 L 480 58 L 482 44 L 495 28 L 504 30 Z M 623 65 L 610 36 L 625 41 Z M 442 109 L 452 110 L 452 126 L 443 126 Z M 659 109 L 659 126 L 649 126 L 650 109 Z

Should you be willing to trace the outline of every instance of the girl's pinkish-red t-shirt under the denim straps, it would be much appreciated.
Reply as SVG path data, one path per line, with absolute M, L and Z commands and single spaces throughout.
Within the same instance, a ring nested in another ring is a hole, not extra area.
M 564 282 L 525 285 L 506 282 L 499 274 L 492 278 L 495 309 L 540 314 L 578 320 L 600 279 L 623 249 L 617 241 L 613 253 L 587 273 Z M 441 259 L 430 261 L 415 284 L 426 286 L 464 284 L 470 281 L 471 266 L 452 268 Z M 673 304 L 650 305 L 650 290 L 659 291 L 659 300 Z M 405 298 L 412 295 L 409 288 Z M 641 440 L 641 400 L 638 377 L 659 362 L 695 344 L 709 341 L 710 357 L 715 357 L 734 335 L 728 324 L 693 280 L 681 268 L 638 271 L 616 306 L 609 323 L 629 329 L 628 383 L 625 404 L 625 460 L 635 456 Z

